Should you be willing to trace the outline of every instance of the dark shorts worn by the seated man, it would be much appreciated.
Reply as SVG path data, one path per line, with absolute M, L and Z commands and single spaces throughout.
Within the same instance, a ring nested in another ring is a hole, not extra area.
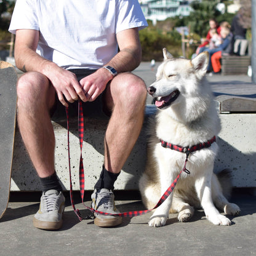
M 85 69 L 75 69 L 75 70 L 69 70 L 76 74 L 76 77 L 78 78 L 78 81 L 80 81 L 82 78 L 89 76 L 90 74 L 94 73 L 96 70 L 85 70 Z M 104 104 L 103 104 L 103 94 L 100 94 L 94 102 L 82 102 L 82 109 L 84 112 L 84 116 L 89 118 L 109 118 L 110 113 L 105 110 Z M 78 116 L 78 101 L 74 103 L 68 103 L 68 110 L 70 116 Z M 60 116 L 65 115 L 65 106 L 60 103 L 58 100 L 57 94 L 56 94 L 56 101 L 54 108 L 50 111 L 50 115 L 52 119 L 55 119 Z

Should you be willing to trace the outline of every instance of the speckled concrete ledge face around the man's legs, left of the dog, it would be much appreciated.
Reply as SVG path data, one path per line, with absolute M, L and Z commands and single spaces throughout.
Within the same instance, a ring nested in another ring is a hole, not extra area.
M 124 165 L 121 175 L 115 183 L 117 190 L 137 190 L 138 177 L 143 172 L 146 159 L 146 122 L 152 113 L 152 106 L 146 108 L 145 121 L 142 132 L 132 150 L 129 159 Z M 154 109 L 154 106 L 153 106 Z M 153 110 L 154 111 L 154 110 Z M 86 190 L 93 190 L 103 164 L 103 138 L 108 121 L 99 119 L 85 119 L 84 143 L 82 156 L 84 158 L 84 172 Z M 55 170 L 65 190 L 70 190 L 68 167 L 68 146 L 66 120 L 61 118 L 52 121 L 56 138 Z M 14 160 L 12 166 L 11 191 L 38 191 L 41 190 L 36 171 L 31 165 L 28 154 L 16 129 Z M 70 153 L 73 190 L 79 190 L 79 157 L 80 146 L 78 138 L 78 120 L 70 120 Z

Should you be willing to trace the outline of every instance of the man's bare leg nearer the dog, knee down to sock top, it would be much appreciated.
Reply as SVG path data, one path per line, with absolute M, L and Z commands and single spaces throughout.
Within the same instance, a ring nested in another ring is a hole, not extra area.
M 131 73 L 116 76 L 106 89 L 106 103 L 113 112 L 105 135 L 105 167 L 119 173 L 142 129 L 146 86 Z

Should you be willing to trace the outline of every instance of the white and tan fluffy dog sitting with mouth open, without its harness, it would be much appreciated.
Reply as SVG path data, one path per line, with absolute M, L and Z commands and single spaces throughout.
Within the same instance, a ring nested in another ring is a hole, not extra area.
M 164 62 L 159 66 L 156 82 L 148 93 L 156 100 L 159 110 L 151 125 L 146 169 L 139 187 L 143 204 L 152 209 L 182 170 L 186 154 L 161 146 L 160 139 L 179 146 L 193 146 L 207 142 L 220 132 L 212 92 L 205 78 L 209 55 L 199 54 L 193 60 L 173 58 L 164 52 Z M 239 214 L 236 204 L 225 198 L 217 175 L 213 173 L 217 143 L 190 154 L 174 192 L 156 209 L 150 226 L 166 224 L 169 212 L 178 212 L 178 220 L 186 222 L 201 206 L 207 219 L 215 225 L 230 225 L 230 219 L 220 214 Z M 227 185 L 225 185 L 227 186 Z M 215 204 L 215 206 L 214 206 Z

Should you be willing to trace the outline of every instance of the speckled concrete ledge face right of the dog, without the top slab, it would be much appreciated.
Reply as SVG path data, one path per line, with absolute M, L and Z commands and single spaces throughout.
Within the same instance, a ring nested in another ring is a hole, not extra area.
M 256 114 L 220 114 L 215 170 L 230 168 L 233 186 L 256 187 Z

